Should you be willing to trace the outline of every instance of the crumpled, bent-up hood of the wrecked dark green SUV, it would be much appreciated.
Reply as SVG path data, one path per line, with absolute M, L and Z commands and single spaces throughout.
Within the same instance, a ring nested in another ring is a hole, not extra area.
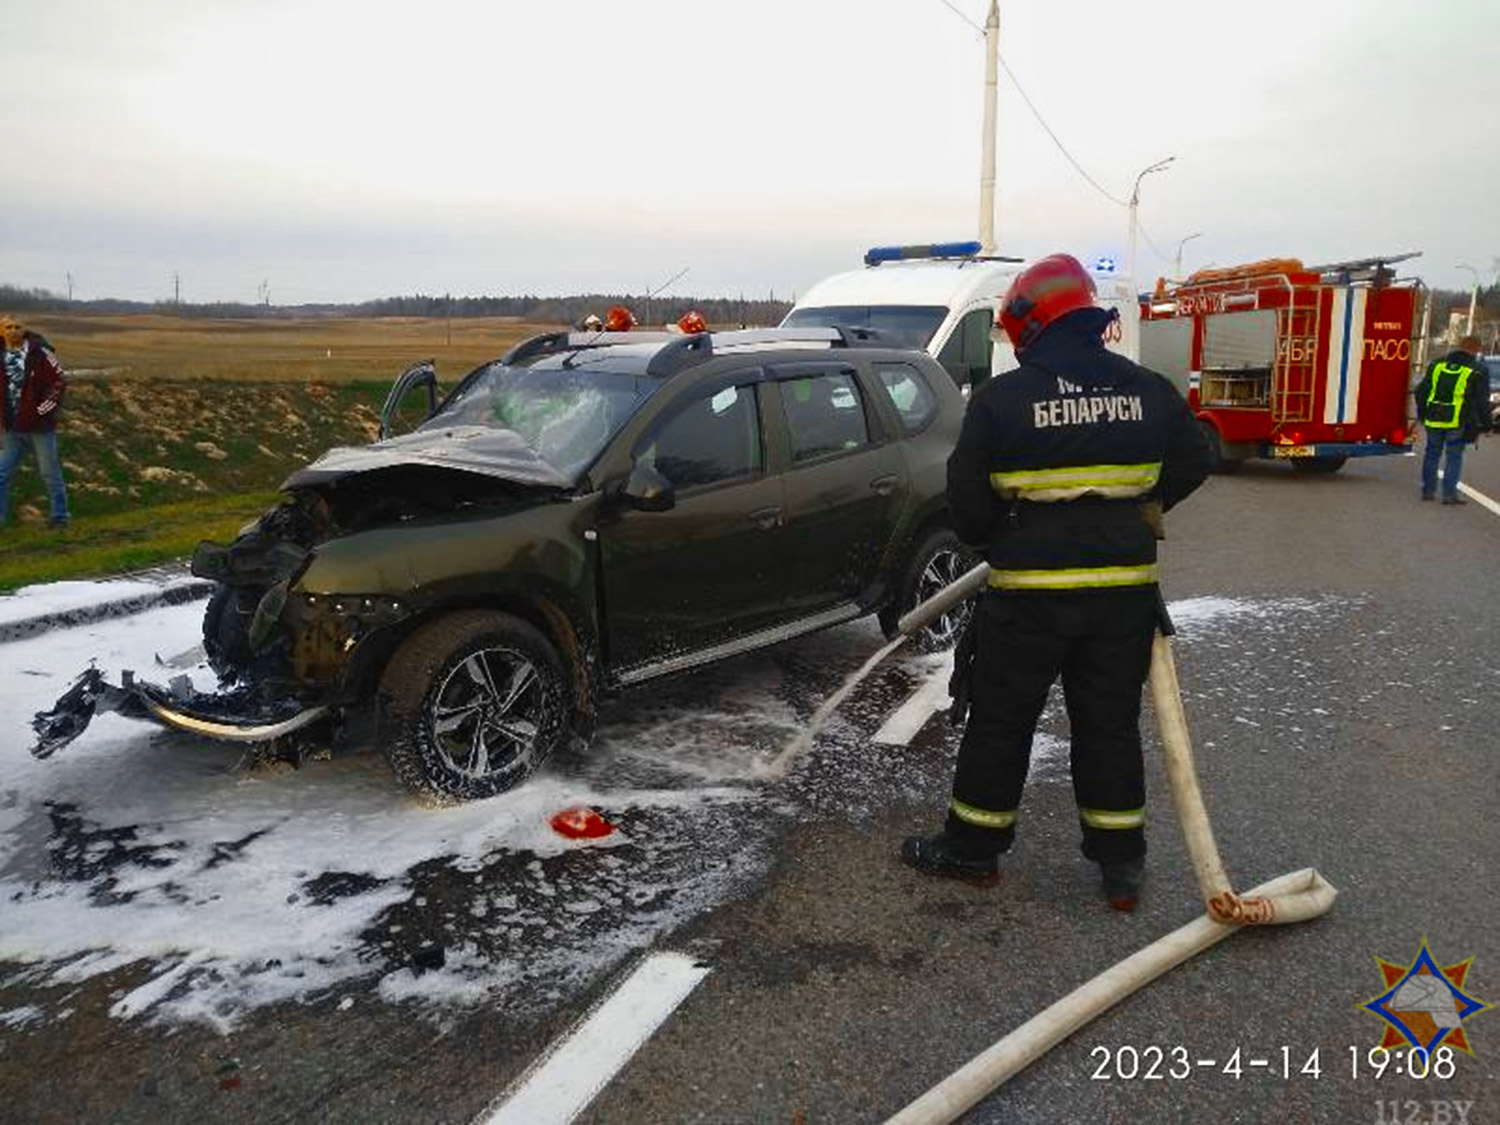
M 573 482 L 538 458 L 514 430 L 490 426 L 444 426 L 404 434 L 370 446 L 332 448 L 286 478 L 284 489 L 328 484 L 356 472 L 406 465 L 477 472 L 496 480 L 542 488 L 572 488 Z

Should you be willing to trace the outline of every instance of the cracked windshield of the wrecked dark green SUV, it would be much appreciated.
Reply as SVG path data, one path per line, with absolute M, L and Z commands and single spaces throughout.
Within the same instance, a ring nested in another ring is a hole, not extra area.
M 660 386 L 644 374 L 590 368 L 507 368 L 472 372 L 420 429 L 508 429 L 570 480 L 576 480 Z

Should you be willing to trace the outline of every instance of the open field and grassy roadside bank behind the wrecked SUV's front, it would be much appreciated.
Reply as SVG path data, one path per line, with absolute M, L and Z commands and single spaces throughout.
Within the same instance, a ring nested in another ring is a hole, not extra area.
M 0 591 L 98 578 L 225 540 L 324 450 L 372 441 L 390 382 L 435 358 L 442 386 L 534 332 L 454 321 L 36 316 L 69 370 L 58 424 L 74 522 L 45 526 L 34 460 L 10 482 Z

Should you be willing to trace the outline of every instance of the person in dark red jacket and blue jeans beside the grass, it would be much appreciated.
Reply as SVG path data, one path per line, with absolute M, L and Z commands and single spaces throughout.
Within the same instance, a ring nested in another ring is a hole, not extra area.
M 68 486 L 63 462 L 57 454 L 57 412 L 63 405 L 68 380 L 51 345 L 20 320 L 0 315 L 0 344 L 4 345 L 4 387 L 0 393 L 0 525 L 10 513 L 10 477 L 26 452 L 36 450 L 36 466 L 46 483 L 51 507 L 48 524 L 68 526 Z

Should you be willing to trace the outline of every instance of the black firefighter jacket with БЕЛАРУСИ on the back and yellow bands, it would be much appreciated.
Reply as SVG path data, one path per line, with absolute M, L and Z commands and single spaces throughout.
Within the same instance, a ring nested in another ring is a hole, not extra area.
M 958 537 L 984 549 L 992 586 L 1154 582 L 1156 536 L 1142 504 L 1170 508 L 1208 477 L 1188 404 L 1104 348 L 1107 318 L 1068 314 L 969 400 L 948 458 L 948 506 Z

